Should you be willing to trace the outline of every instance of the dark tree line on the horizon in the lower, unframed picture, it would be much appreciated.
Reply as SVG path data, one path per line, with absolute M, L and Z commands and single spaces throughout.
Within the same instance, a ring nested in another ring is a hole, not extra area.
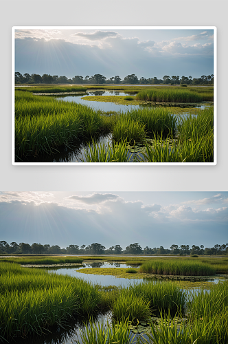
M 204 248 L 203 245 L 196 246 L 192 245 L 175 245 L 173 244 L 170 248 L 163 248 L 160 246 L 158 248 L 141 248 L 138 243 L 130 244 L 126 246 L 125 250 L 122 249 L 120 245 L 111 246 L 110 248 L 105 248 L 102 244 L 93 243 L 91 245 L 69 245 L 67 248 L 60 248 L 58 245 L 50 246 L 49 244 L 38 244 L 34 243 L 32 245 L 21 242 L 16 244 L 16 242 L 11 242 L 8 244 L 6 241 L 0 241 L 0 254 L 68 254 L 68 255 L 228 255 L 228 244 L 214 245 L 212 248 Z

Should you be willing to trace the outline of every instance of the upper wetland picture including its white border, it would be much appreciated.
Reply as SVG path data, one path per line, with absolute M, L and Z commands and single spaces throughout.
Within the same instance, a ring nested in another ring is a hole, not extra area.
M 13 27 L 12 164 L 215 165 L 216 27 Z

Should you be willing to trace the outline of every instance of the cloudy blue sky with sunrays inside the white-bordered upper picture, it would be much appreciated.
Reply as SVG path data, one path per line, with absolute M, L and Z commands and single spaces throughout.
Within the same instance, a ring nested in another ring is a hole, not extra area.
M 23 28 L 15 30 L 15 72 L 106 78 L 214 74 L 214 30 Z

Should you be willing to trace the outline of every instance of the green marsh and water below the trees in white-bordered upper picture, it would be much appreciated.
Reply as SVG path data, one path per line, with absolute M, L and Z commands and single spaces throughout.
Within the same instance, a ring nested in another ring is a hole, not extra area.
M 213 87 L 121 88 L 16 87 L 15 162 L 214 162 Z

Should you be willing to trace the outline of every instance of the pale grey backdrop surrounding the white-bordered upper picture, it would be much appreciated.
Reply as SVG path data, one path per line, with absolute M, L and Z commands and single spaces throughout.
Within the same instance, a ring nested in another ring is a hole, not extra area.
M 227 1 L 1 0 L 1 191 L 227 191 Z M 12 166 L 11 29 L 24 25 L 216 26 L 216 166 Z

